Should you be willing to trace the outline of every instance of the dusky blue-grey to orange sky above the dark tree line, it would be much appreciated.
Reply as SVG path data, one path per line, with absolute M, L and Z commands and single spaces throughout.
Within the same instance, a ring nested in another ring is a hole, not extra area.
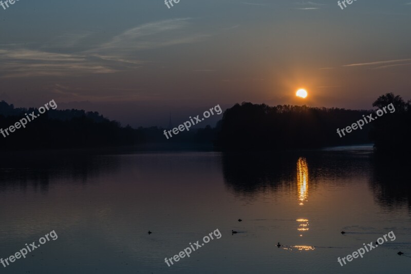
M 410 1 L 20 0 L 0 7 L 0 100 L 55 100 L 133 127 L 241 102 L 410 100 Z

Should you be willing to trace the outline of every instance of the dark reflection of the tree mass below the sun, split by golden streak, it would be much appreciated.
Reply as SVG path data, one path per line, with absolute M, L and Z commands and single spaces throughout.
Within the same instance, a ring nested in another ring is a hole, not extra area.
M 304 156 L 304 158 L 301 158 Z M 306 162 L 298 159 L 306 159 Z M 303 161 L 303 162 L 301 162 Z M 308 168 L 307 162 L 310 164 Z M 370 170 L 369 154 L 345 151 L 304 151 L 288 153 L 223 153 L 222 166 L 226 185 L 237 194 L 253 196 L 267 190 L 288 187 L 300 192 L 297 185 L 296 165 L 301 164 L 310 189 L 319 179 L 345 179 L 364 175 Z M 304 178 L 303 178 L 304 181 Z

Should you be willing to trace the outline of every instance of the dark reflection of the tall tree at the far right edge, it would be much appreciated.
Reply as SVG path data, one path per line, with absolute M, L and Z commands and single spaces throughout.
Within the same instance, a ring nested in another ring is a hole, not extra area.
M 411 210 L 409 164 L 391 160 L 375 160 L 370 187 L 378 204 L 389 209 L 407 205 Z

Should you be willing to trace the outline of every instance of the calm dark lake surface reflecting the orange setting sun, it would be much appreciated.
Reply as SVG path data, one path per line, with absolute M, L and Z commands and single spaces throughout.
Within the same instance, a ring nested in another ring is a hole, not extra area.
M 287 154 L 34 153 L 6 155 L 0 167 L 0 258 L 51 230 L 58 234 L 26 259 L 0 265 L 2 273 L 411 270 L 408 167 L 376 161 L 368 146 Z M 165 264 L 215 229 L 220 239 Z M 391 230 L 395 241 L 343 267 L 337 262 Z

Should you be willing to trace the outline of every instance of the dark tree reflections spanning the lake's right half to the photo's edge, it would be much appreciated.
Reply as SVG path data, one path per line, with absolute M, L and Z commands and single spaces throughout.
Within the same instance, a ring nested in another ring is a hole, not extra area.
M 355 153 L 355 154 L 354 154 Z M 306 173 L 298 180 L 295 166 L 305 170 L 304 154 L 310 164 Z M 223 153 L 223 175 L 226 185 L 236 194 L 253 198 L 255 194 L 289 188 L 297 191 L 303 198 L 304 182 L 310 178 L 310 189 L 314 190 L 319 181 L 332 181 L 346 178 L 370 178 L 370 187 L 375 200 L 380 205 L 396 209 L 405 204 L 411 209 L 411 184 L 407 177 L 406 163 L 390 163 L 390 160 L 377 161 L 371 153 L 346 151 L 316 151 L 304 153 Z M 297 178 L 296 178 L 297 177 Z M 296 183 L 297 182 L 297 183 Z M 353 181 L 356 182 L 355 180 Z M 349 186 L 347 186 L 349 187 Z M 303 190 L 303 193 L 300 193 Z M 311 191 L 310 190 L 310 191 Z

